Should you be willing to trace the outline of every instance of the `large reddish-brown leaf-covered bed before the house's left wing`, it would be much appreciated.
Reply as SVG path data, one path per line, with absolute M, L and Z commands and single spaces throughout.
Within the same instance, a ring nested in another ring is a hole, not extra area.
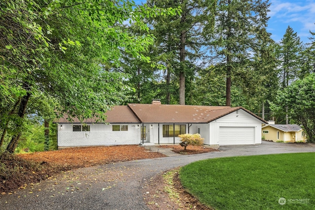
M 0 154 L 0 194 L 80 167 L 165 157 L 139 146 L 80 147 L 25 154 Z

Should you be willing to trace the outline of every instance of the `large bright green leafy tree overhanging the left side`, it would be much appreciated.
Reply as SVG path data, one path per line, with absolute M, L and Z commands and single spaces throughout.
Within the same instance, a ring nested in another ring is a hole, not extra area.
M 128 75 L 104 66 L 119 65 L 124 51 L 150 62 L 141 52 L 153 37 L 134 36 L 122 24 L 130 20 L 148 30 L 145 17 L 175 13 L 118 0 L 7 0 L 0 8 L 0 130 L 14 130 L 9 152 L 35 95 L 55 98 L 60 115 L 104 120 L 103 113 L 133 91 L 124 84 Z

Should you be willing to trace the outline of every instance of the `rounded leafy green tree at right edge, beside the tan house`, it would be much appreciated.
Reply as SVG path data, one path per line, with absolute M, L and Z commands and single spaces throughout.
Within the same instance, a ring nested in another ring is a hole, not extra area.
M 272 110 L 276 114 L 287 114 L 293 122 L 302 125 L 308 142 L 315 143 L 315 74 L 279 91 Z

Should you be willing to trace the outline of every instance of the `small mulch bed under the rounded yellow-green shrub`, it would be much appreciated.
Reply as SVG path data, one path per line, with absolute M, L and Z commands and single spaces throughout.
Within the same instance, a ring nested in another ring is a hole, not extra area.
M 184 150 L 184 147 L 180 145 L 162 145 L 161 148 L 171 148 L 172 151 L 179 153 L 179 154 L 199 154 L 199 153 L 205 153 L 205 152 L 211 152 L 211 151 L 219 151 L 213 148 L 208 148 L 204 146 L 191 146 L 189 145 L 186 150 Z

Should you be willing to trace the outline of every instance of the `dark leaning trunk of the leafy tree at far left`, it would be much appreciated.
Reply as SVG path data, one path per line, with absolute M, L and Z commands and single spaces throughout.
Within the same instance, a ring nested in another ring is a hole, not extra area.
M 18 120 L 18 122 L 16 123 L 16 127 L 17 129 L 20 129 L 21 126 L 22 126 L 22 119 L 24 118 L 24 115 L 25 115 L 25 112 L 26 112 L 26 107 L 27 107 L 27 104 L 30 100 L 30 97 L 31 97 L 31 93 L 28 92 L 25 96 L 23 96 L 23 98 L 21 99 L 21 103 L 20 103 L 20 108 L 19 108 L 19 112 L 18 112 L 18 117 L 21 118 L 21 120 Z M 11 138 L 11 141 L 9 143 L 9 145 L 7 146 L 6 150 L 10 153 L 14 153 L 14 150 L 17 146 L 17 143 L 20 139 L 22 135 L 22 132 L 21 130 L 19 130 L 19 132 L 15 135 L 12 136 Z

